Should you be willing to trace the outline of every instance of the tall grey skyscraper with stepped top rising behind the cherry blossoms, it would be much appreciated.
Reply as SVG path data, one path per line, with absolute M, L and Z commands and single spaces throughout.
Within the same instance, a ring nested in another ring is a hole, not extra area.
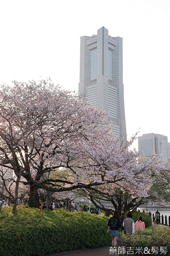
M 115 136 L 126 134 L 123 95 L 122 37 L 108 35 L 104 27 L 97 35 L 80 37 L 79 94 L 89 104 L 109 112 Z

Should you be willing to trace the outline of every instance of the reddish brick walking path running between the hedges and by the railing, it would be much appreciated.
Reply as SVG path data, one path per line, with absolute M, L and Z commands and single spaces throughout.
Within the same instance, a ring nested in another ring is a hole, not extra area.
M 170 228 L 169 226 L 165 226 L 162 224 L 154 224 L 152 222 L 152 227 L 157 228 L 157 227 L 163 227 L 163 228 Z M 58 252 L 54 254 L 46 254 L 44 256 L 109 256 L 109 247 L 110 246 L 105 246 L 105 247 L 97 247 L 93 249 L 80 249 L 80 250 L 74 250 L 74 251 L 67 251 L 67 252 Z M 116 254 L 114 254 L 116 255 Z

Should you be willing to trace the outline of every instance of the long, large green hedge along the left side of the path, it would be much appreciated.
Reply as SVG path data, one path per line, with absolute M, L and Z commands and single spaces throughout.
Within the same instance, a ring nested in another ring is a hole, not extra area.
M 40 211 L 23 205 L 13 215 L 11 207 L 4 207 L 0 210 L 0 255 L 38 256 L 111 245 L 107 221 L 96 214 Z

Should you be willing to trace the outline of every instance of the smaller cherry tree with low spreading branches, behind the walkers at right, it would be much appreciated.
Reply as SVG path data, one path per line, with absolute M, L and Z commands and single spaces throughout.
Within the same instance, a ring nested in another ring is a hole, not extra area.
M 147 158 L 142 157 L 138 162 L 148 161 Z M 138 185 L 132 184 L 128 181 L 128 183 L 122 183 L 121 185 L 118 183 L 114 184 L 103 184 L 96 187 L 86 188 L 86 189 L 78 189 L 74 191 L 77 196 L 84 196 L 87 199 L 91 200 L 91 202 L 101 210 L 113 213 L 112 209 L 105 209 L 104 202 L 109 202 L 113 205 L 115 210 L 121 214 L 121 212 L 134 211 L 139 205 L 144 204 L 148 201 L 152 202 L 166 202 L 170 198 L 170 172 L 169 166 L 164 163 L 160 157 L 157 157 L 155 154 L 152 155 L 151 159 L 154 159 L 155 165 L 161 164 L 162 166 L 159 172 L 155 172 L 150 168 L 150 166 L 146 164 L 146 172 L 145 175 L 148 176 L 150 180 L 152 180 L 152 184 L 150 186 L 146 186 L 144 188 L 145 193 L 140 193 L 138 190 Z M 155 161 L 156 160 L 156 161 Z M 149 160 L 150 161 L 150 160 Z M 153 164 L 153 163 L 152 163 Z M 159 167 L 160 167 L 159 166 Z M 147 169 L 151 172 L 147 172 Z M 151 175 L 151 176 L 150 176 Z M 142 182 L 143 177 L 141 176 L 140 182 Z M 145 183 L 146 185 L 146 183 Z

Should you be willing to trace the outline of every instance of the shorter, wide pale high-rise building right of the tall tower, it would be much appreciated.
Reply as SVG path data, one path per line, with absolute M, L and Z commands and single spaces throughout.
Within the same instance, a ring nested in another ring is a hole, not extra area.
M 151 157 L 152 151 L 168 164 L 168 138 L 155 133 L 147 133 L 138 137 L 139 152 L 146 157 Z

